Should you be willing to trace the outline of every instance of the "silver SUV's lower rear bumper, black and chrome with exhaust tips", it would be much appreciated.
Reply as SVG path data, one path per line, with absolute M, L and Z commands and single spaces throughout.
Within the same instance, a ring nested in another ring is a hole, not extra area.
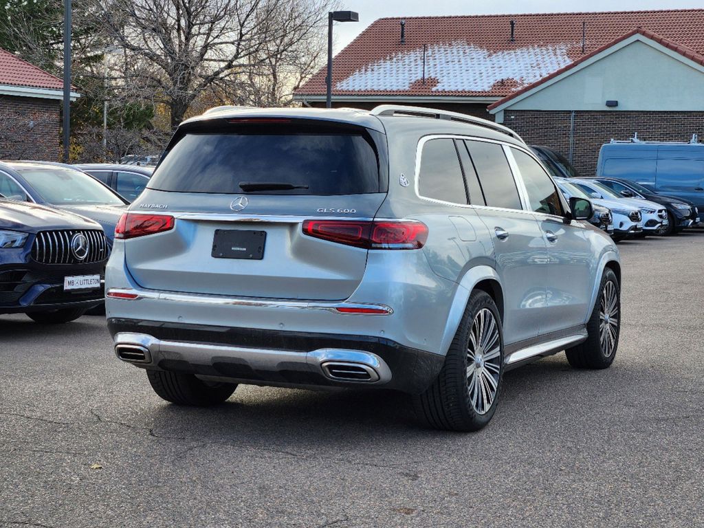
M 444 356 L 379 337 L 122 318 L 109 318 L 108 329 L 115 353 L 128 363 L 245 384 L 418 394 L 444 363 Z

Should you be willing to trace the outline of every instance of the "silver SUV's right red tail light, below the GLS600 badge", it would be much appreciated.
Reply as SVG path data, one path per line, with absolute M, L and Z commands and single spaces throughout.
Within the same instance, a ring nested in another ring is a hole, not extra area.
M 303 234 L 365 249 L 420 249 L 428 227 L 417 220 L 306 220 Z

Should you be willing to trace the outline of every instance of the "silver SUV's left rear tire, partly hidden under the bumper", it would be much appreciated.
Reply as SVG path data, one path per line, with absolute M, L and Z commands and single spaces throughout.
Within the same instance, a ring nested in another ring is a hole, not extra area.
M 149 384 L 166 401 L 183 406 L 214 406 L 232 396 L 237 384 L 203 382 L 192 374 L 147 370 Z

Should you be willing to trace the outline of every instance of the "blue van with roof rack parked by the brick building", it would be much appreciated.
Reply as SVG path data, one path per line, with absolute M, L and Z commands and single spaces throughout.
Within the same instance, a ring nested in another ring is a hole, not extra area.
M 600 177 L 631 180 L 655 192 L 693 202 L 704 221 L 704 143 L 612 142 L 601 146 Z

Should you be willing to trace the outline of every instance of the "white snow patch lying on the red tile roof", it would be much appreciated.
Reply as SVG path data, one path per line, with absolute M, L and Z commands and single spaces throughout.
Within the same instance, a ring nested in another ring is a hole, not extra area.
M 512 87 L 520 88 L 570 64 L 568 49 L 560 44 L 493 53 L 467 42 L 435 44 L 365 65 L 337 82 L 335 88 L 358 92 L 408 90 L 422 83 L 424 55 L 425 80 L 432 84 L 432 92 L 489 92 L 509 80 Z

